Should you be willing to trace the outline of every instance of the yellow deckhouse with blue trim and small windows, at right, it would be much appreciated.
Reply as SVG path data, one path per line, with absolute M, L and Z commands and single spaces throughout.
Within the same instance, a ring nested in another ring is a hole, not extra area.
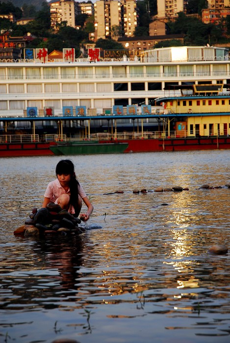
M 187 136 L 230 135 L 230 94 L 223 93 L 224 84 L 169 85 L 169 95 L 156 99 L 164 105 L 164 114 L 175 118 L 174 129 L 187 131 Z M 180 96 L 171 96 L 176 90 Z M 165 89 L 166 90 L 166 89 Z M 176 115 L 176 116 L 175 116 Z M 182 131 L 181 131 L 182 134 Z

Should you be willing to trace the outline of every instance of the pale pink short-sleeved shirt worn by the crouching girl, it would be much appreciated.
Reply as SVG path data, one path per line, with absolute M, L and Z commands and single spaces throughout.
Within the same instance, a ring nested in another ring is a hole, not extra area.
M 61 186 L 60 182 L 58 179 L 55 179 L 54 181 L 51 181 L 46 189 L 46 192 L 44 194 L 44 197 L 49 197 L 51 202 L 55 202 L 57 203 L 57 198 L 59 196 L 61 196 L 62 194 L 67 193 L 70 194 L 70 189 L 68 189 L 68 191 L 66 192 L 64 190 L 64 188 Z M 83 187 L 79 184 L 78 187 L 78 199 L 79 202 L 81 201 L 81 199 L 83 197 L 86 197 L 85 191 L 83 189 Z M 70 206 L 69 212 L 74 214 L 75 210 L 74 210 L 74 206 Z

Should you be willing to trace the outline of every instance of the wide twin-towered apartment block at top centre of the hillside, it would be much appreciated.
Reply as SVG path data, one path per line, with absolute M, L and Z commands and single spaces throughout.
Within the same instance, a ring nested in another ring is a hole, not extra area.
M 137 26 L 136 0 L 98 0 L 94 4 L 95 38 L 113 38 L 113 27 L 132 37 Z

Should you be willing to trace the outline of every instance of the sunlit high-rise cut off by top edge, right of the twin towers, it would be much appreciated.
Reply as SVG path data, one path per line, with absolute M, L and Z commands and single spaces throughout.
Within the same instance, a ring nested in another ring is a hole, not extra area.
M 157 17 L 175 17 L 185 9 L 185 0 L 157 0 Z

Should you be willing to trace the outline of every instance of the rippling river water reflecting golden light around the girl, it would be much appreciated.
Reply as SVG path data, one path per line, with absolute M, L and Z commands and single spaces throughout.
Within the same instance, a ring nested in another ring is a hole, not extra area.
M 71 159 L 95 206 L 72 239 L 13 235 L 60 157 L 0 159 L 0 341 L 229 342 L 230 252 L 208 248 L 230 248 L 230 189 L 199 187 L 230 183 L 230 150 Z

